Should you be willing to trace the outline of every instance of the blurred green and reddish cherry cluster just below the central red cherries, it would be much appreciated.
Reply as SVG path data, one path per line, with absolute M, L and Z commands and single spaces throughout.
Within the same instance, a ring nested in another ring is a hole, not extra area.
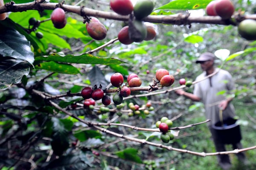
M 147 102 L 147 104 L 139 106 L 138 104 L 134 103 L 129 103 L 128 104 L 129 109 L 131 109 L 131 112 L 128 112 L 128 116 L 133 116 L 133 115 L 148 115 L 150 111 L 154 110 L 154 107 L 151 105 L 151 102 Z

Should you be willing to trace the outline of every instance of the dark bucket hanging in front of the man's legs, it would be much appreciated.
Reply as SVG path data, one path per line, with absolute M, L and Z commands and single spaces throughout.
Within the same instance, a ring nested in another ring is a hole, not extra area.
M 239 124 L 236 124 L 236 119 L 229 118 L 223 121 L 215 123 L 212 128 L 218 136 L 218 140 L 223 144 L 236 144 L 241 141 L 241 131 Z

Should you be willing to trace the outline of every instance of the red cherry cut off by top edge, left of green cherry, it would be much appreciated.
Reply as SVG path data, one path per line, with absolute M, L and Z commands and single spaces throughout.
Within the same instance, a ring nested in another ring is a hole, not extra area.
M 110 0 L 111 9 L 120 15 L 128 15 L 134 9 L 131 0 Z

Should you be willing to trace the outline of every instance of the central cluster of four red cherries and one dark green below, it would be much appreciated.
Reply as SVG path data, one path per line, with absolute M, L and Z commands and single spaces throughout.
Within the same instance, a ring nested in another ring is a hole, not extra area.
M 128 97 L 129 95 L 136 95 L 138 93 L 138 91 L 131 91 L 129 87 L 139 87 L 142 84 L 139 76 L 137 74 L 131 73 L 127 77 L 128 84 L 122 86 L 124 78 L 119 72 L 111 75 L 110 82 L 113 86 L 119 88 L 119 91 L 113 95 L 113 103 L 116 105 L 122 103 L 123 97 Z

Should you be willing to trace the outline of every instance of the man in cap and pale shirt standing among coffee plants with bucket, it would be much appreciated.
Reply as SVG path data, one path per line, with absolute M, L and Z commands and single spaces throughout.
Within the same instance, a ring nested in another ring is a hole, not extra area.
M 196 81 L 199 82 L 195 84 L 193 94 L 185 92 L 182 89 L 178 89 L 176 93 L 190 98 L 193 101 L 202 101 L 204 103 L 206 118 L 211 120 L 207 125 L 212 133 L 216 151 L 221 152 L 226 151 L 225 144 L 218 140 L 217 133 L 213 133 L 212 125 L 220 121 L 220 109 L 223 111 L 223 120 L 233 118 L 235 116 L 235 109 L 233 104 L 230 103 L 233 98 L 218 95 L 218 92 L 231 92 L 231 90 L 235 88 L 235 85 L 229 72 L 214 67 L 214 58 L 214 54 L 206 52 L 203 53 L 196 61 L 196 63 L 200 63 L 204 72 L 196 78 Z M 212 73 L 215 74 L 203 81 L 200 81 Z M 233 144 L 233 148 L 241 149 L 241 143 Z M 244 153 L 238 153 L 237 156 L 240 161 L 246 161 Z M 218 164 L 224 170 L 229 170 L 232 166 L 228 155 L 218 155 Z

